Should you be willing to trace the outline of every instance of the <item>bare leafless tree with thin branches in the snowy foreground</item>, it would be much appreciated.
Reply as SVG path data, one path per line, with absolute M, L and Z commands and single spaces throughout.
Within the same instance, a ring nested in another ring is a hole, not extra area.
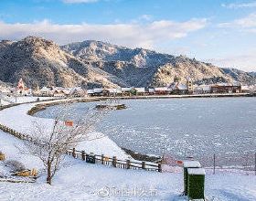
M 69 149 L 76 147 L 82 141 L 103 137 L 101 134 L 91 136 L 90 133 L 107 111 L 107 108 L 104 110 L 89 108 L 72 122 L 74 112 L 69 103 L 66 103 L 61 107 L 60 112 L 58 111 L 51 125 L 34 122 L 31 139 L 25 141 L 25 146 L 30 154 L 37 156 L 44 164 L 49 185 Z

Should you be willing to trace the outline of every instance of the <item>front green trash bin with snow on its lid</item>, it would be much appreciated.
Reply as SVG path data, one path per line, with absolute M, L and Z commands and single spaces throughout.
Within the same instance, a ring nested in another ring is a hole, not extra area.
M 205 169 L 187 168 L 187 196 L 189 199 L 205 198 Z

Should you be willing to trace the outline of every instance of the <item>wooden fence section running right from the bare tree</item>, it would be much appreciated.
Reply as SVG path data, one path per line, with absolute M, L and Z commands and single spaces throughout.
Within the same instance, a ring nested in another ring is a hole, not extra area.
M 87 163 L 91 164 L 104 164 L 116 168 L 123 168 L 123 169 L 142 169 L 147 171 L 157 171 L 162 172 L 162 165 L 161 164 L 154 164 L 154 163 L 146 163 L 146 162 L 138 162 L 138 161 L 131 161 L 131 160 L 119 160 L 116 156 L 108 157 L 104 154 L 97 155 L 97 154 L 89 154 L 85 153 L 84 151 L 78 151 L 75 148 L 69 150 L 67 152 L 74 158 L 80 159 L 82 161 L 86 161 Z

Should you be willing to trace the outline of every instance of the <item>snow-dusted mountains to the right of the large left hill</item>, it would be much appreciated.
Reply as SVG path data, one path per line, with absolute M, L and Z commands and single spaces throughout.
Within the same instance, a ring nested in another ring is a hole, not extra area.
M 100 41 L 84 41 L 61 47 L 93 67 L 102 69 L 135 87 L 165 86 L 175 76 L 189 77 L 198 84 L 240 81 L 256 83 L 255 74 L 237 69 L 220 69 L 195 58 L 160 54 L 143 48 L 123 48 Z

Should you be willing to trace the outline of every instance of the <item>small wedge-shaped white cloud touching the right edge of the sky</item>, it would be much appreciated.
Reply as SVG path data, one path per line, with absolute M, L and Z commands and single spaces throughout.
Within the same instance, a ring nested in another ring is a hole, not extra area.
M 252 13 L 249 16 L 245 16 L 240 19 L 233 20 L 227 23 L 219 24 L 219 27 L 237 27 L 237 28 L 245 28 L 248 31 L 251 31 L 251 28 L 256 27 L 256 13 Z

